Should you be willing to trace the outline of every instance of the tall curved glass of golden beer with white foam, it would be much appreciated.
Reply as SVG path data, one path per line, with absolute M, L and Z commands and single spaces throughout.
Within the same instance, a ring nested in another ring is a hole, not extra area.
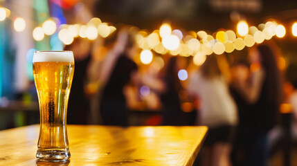
M 73 73 L 72 51 L 34 53 L 33 74 L 40 112 L 37 160 L 60 162 L 70 158 L 66 118 Z

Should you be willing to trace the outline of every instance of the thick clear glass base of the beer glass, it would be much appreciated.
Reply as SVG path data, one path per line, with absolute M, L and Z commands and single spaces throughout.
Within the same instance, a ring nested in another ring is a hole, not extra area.
M 69 160 L 70 152 L 68 149 L 38 149 L 36 158 L 39 161 L 46 162 L 64 162 Z

